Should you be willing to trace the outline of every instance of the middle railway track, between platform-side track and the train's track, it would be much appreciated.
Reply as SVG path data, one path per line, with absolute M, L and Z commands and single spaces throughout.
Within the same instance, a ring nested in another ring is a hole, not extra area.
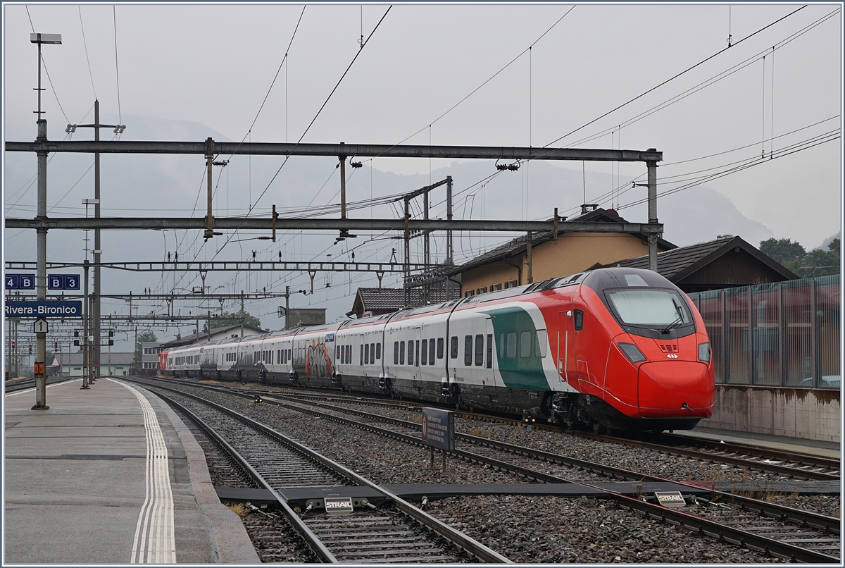
M 193 386 L 196 387 L 197 385 Z M 224 392 L 243 397 L 254 396 L 246 392 L 232 392 L 232 390 L 224 390 Z M 380 435 L 387 435 L 409 444 L 421 445 L 419 440 L 420 426 L 417 423 L 336 407 L 336 405 L 333 406 L 324 401 L 314 401 L 313 396 L 307 396 L 312 400 L 303 401 L 303 397 L 281 394 L 271 396 L 265 391 L 262 391 L 261 394 L 265 397 L 265 401 L 276 402 L 297 412 L 306 412 L 319 418 L 330 419 L 367 429 Z M 302 404 L 308 406 L 300 406 Z M 338 416 L 338 413 L 352 414 L 359 419 L 343 418 Z M 381 423 L 381 425 L 377 425 L 378 423 Z M 389 423 L 390 429 L 384 429 L 382 427 L 384 423 Z M 523 478 L 540 483 L 573 483 L 573 480 L 569 476 L 559 477 L 559 475 L 548 472 L 548 469 L 547 471 L 540 471 L 537 469 L 538 465 L 532 464 L 532 467 L 526 467 L 526 458 L 537 462 L 537 464 L 543 462 L 563 464 L 569 468 L 575 468 L 575 470 L 597 473 L 607 478 L 630 479 L 640 483 L 666 483 L 669 481 L 665 478 L 644 476 L 639 472 L 630 472 L 618 467 L 578 460 L 570 456 L 504 444 L 469 434 L 459 434 L 459 440 L 472 444 L 474 447 L 472 451 L 457 450 L 454 452 L 455 456 L 502 471 L 514 472 Z M 596 487 L 595 478 L 591 480 L 589 478 L 581 479 L 581 483 Z M 680 484 L 684 485 L 684 483 Z M 690 492 L 701 489 L 692 484 L 687 485 L 687 487 Z M 694 500 L 703 504 L 701 510 L 696 509 L 696 511 L 703 511 L 708 518 L 690 515 L 684 511 L 670 511 L 660 505 L 643 503 L 640 498 L 633 499 L 623 494 L 608 493 L 608 499 L 616 500 L 620 506 L 641 511 L 652 518 L 684 525 L 697 532 L 731 543 L 741 543 L 742 546 L 751 549 L 765 550 L 777 557 L 810 562 L 839 562 L 836 556 L 828 554 L 835 553 L 840 546 L 839 519 L 837 518 L 718 491 L 711 491 L 709 499 L 693 497 Z

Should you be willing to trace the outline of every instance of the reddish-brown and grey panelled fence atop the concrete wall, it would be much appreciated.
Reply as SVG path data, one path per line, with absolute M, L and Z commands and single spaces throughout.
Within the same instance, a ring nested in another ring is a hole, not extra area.
M 839 389 L 840 275 L 691 292 L 716 382 Z

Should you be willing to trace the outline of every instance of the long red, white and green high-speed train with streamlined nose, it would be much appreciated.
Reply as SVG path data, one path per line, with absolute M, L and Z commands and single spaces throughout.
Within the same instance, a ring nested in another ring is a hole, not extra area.
M 704 321 L 650 270 L 608 268 L 340 324 L 161 353 L 175 376 L 385 393 L 596 431 L 713 411 Z

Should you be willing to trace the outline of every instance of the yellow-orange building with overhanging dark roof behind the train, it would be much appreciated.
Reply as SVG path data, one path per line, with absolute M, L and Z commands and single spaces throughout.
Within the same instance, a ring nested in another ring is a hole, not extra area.
M 614 210 L 595 209 L 570 222 L 623 224 Z M 450 275 L 461 275 L 461 297 L 493 292 L 558 276 L 582 272 L 596 265 L 648 254 L 646 235 L 635 232 L 542 232 L 532 235 L 531 251 L 527 235 L 489 250 Z M 660 239 L 657 250 L 677 248 Z

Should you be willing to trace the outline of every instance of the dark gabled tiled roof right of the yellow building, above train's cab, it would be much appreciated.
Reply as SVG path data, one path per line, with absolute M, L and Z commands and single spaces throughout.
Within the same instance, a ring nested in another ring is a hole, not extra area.
M 657 253 L 657 273 L 665 276 L 669 281 L 677 282 L 736 247 L 744 249 L 745 252 L 759 259 L 764 264 L 769 265 L 772 269 L 781 272 L 788 279 L 798 277 L 778 264 L 777 261 L 761 253 L 759 249 L 756 249 L 753 245 L 746 243 L 739 237 L 722 237 L 707 241 L 706 243 L 690 244 L 686 247 Z M 619 260 L 603 267 L 611 266 L 647 269 L 648 255 L 638 256 L 634 259 Z M 597 266 L 596 268 L 599 267 Z

